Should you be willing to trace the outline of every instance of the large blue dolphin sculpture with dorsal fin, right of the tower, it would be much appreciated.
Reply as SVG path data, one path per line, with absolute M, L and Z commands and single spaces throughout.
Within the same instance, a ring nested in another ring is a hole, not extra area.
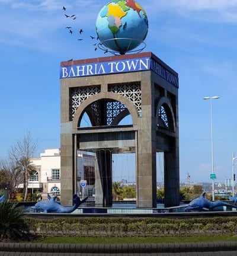
M 200 197 L 192 200 L 187 207 L 185 207 L 185 212 L 196 211 L 212 211 L 212 210 L 223 210 L 223 206 L 230 206 L 232 208 L 237 208 L 237 206 L 223 201 L 209 201 L 205 197 L 206 192 L 202 193 Z

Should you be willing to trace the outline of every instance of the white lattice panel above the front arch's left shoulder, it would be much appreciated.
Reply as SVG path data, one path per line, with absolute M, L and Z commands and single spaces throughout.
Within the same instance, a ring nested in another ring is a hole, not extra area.
M 83 101 L 99 92 L 100 86 L 70 88 L 70 120 L 73 120 L 76 110 Z

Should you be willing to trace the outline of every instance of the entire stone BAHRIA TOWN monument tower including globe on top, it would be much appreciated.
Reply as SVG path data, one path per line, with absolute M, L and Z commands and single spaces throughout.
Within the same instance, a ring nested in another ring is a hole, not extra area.
M 112 204 L 112 155 L 134 153 L 136 205 L 156 207 L 156 152 L 164 152 L 165 206 L 178 206 L 178 74 L 151 52 L 145 10 L 111 1 L 96 23 L 98 47 L 112 56 L 62 62 L 61 200 L 78 191 L 77 152 L 95 156 L 95 203 Z M 140 47 L 140 48 L 139 48 Z M 82 127 L 87 114 L 91 127 Z M 120 125 L 130 115 L 132 124 Z

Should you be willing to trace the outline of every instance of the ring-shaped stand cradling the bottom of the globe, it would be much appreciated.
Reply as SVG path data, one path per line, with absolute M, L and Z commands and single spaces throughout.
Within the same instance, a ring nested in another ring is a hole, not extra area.
M 127 41 L 128 41 L 127 47 L 126 47 L 125 50 L 124 50 L 124 47 L 121 47 L 121 46 L 119 45 L 119 41 L 122 41 L 122 40 L 127 40 Z M 117 48 L 118 48 L 119 50 L 113 50 L 113 49 L 110 49 L 109 47 L 107 47 L 106 44 L 107 44 L 108 42 L 110 42 L 110 41 L 114 41 L 114 43 L 116 44 L 116 46 L 117 46 Z M 130 45 L 131 45 L 131 43 L 132 43 L 133 41 L 137 41 L 137 42 L 138 42 L 136 48 L 137 48 L 140 44 L 142 44 L 142 46 L 141 46 L 139 49 L 136 49 L 136 50 L 133 50 L 133 49 L 132 49 L 132 50 L 129 50 Z M 123 38 L 123 37 L 114 38 L 114 39 L 107 39 L 107 40 L 104 40 L 104 41 L 101 41 L 100 43 L 98 43 L 98 48 L 99 48 L 100 50 L 103 50 L 104 53 L 107 53 L 107 52 L 112 53 L 113 55 L 124 55 L 124 54 L 126 54 L 126 53 L 140 53 L 140 52 L 142 52 L 143 49 L 145 49 L 145 47 L 146 47 L 146 43 L 145 43 L 144 41 L 142 41 L 142 40 L 139 40 L 139 39 L 129 39 L 129 38 Z M 123 49 L 122 49 L 122 48 L 123 48 Z

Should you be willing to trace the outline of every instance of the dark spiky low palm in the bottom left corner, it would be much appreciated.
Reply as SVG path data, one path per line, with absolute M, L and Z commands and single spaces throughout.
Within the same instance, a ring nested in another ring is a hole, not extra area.
M 28 234 L 24 207 L 8 200 L 0 203 L 0 241 L 17 241 Z

